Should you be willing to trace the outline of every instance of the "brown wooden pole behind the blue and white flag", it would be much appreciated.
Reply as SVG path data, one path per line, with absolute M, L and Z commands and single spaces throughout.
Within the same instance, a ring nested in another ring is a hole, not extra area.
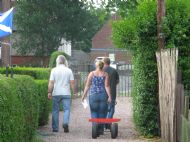
M 11 0 L 2 0 L 2 12 L 9 10 L 11 7 Z M 10 43 L 10 36 L 4 37 L 1 39 L 4 43 Z M 7 44 L 2 44 L 1 48 L 1 58 L 2 58 L 2 65 L 7 66 L 10 65 L 10 46 Z

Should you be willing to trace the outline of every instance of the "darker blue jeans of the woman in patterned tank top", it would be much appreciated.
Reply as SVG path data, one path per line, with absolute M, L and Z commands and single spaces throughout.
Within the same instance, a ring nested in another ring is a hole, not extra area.
M 90 112 L 92 118 L 106 118 L 107 94 L 93 94 L 89 96 Z

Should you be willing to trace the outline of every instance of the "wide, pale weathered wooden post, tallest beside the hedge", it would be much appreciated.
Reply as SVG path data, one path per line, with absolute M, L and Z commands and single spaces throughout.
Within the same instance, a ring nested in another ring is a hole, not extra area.
M 156 53 L 159 77 L 161 137 L 164 142 L 176 142 L 177 49 Z

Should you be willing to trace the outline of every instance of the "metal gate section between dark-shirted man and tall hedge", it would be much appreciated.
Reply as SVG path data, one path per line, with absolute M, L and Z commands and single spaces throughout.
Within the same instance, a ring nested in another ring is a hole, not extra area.
M 132 69 L 131 64 L 117 65 L 119 73 L 119 84 L 117 85 L 118 96 L 131 96 L 132 91 Z

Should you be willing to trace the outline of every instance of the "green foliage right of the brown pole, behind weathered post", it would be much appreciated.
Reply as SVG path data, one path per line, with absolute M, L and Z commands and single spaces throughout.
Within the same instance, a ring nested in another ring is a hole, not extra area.
M 164 19 L 164 34 L 167 48 L 179 49 L 179 69 L 182 71 L 182 83 L 190 96 L 190 1 L 169 0 L 167 16 Z

